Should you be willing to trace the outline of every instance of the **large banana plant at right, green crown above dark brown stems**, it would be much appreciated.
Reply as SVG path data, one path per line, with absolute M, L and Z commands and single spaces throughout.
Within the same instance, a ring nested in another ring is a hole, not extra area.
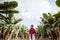
M 52 33 L 52 36 L 56 36 L 56 27 L 60 27 L 59 23 L 60 23 L 60 12 L 54 14 L 54 15 L 51 15 L 50 13 L 47 14 L 43 14 L 43 17 L 42 17 L 42 22 L 43 22 L 43 28 L 45 29 L 45 32 L 44 33 L 48 33 L 48 28 L 50 29 L 50 32 Z M 51 30 L 53 29 L 53 30 Z M 47 35 L 47 34 L 45 34 Z M 56 37 L 57 38 L 57 37 Z M 55 38 L 54 38 L 55 39 Z

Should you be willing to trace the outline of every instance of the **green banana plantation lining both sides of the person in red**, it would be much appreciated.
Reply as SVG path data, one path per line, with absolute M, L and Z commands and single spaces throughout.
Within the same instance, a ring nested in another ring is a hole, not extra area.
M 56 0 L 60 7 L 60 1 Z M 16 19 L 14 14 L 19 13 L 15 8 L 16 1 L 0 3 L 0 39 L 29 40 L 29 29 L 25 25 L 17 25 L 22 19 Z M 40 25 L 36 28 L 36 40 L 60 40 L 60 12 L 56 14 L 43 13 Z

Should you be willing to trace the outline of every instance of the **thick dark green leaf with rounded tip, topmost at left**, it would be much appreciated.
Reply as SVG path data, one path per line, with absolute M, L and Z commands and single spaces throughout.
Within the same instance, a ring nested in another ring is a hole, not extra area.
M 0 10 L 6 10 L 6 9 L 13 9 L 18 6 L 18 3 L 16 1 L 12 2 L 4 2 L 0 4 Z

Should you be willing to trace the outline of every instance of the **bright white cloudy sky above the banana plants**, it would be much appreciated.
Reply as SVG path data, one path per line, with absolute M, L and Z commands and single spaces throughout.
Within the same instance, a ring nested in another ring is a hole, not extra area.
M 5 0 L 7 1 L 7 0 Z M 60 8 L 56 6 L 56 0 L 15 0 L 18 2 L 18 7 L 16 8 L 19 13 L 14 16 L 23 20 L 19 23 L 26 25 L 30 28 L 33 24 L 34 27 L 40 24 L 40 17 L 43 13 L 50 12 L 55 14 L 60 11 Z

